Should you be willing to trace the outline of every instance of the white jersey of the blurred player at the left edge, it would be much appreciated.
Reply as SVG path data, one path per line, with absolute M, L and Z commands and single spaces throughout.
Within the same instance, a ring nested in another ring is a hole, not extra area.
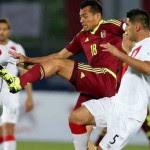
M 18 68 L 16 66 L 16 59 L 12 58 L 11 55 L 8 53 L 10 50 L 15 50 L 18 53 L 25 54 L 23 47 L 20 44 L 17 44 L 11 40 L 7 42 L 6 45 L 0 44 L 0 64 L 6 67 L 10 73 L 13 75 L 18 74 Z M 0 89 L 8 89 L 8 86 L 5 82 L 0 79 Z

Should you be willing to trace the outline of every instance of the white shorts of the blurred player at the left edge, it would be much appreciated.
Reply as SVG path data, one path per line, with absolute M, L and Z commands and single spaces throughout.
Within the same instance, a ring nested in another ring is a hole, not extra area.
M 12 94 L 7 91 L 0 92 L 0 99 L 3 104 L 3 113 L 1 116 L 1 124 L 17 123 L 19 115 L 19 94 Z

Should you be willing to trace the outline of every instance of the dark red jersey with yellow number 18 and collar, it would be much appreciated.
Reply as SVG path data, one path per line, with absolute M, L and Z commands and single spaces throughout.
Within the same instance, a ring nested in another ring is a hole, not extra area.
M 102 51 L 100 44 L 111 43 L 121 49 L 123 22 L 119 20 L 101 21 L 95 31 L 80 31 L 66 46 L 66 49 L 77 54 L 84 52 L 88 64 L 92 67 L 105 67 L 118 72 L 121 67 L 119 59 L 106 51 Z

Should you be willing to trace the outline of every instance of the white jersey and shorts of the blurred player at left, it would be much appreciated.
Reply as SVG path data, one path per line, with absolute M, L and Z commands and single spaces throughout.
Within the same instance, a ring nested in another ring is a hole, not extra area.
M 6 45 L 0 44 L 0 64 L 9 70 L 13 75 L 18 74 L 16 66 L 17 60 L 11 57 L 8 53 L 10 50 L 15 50 L 18 53 L 25 54 L 23 47 L 11 40 Z M 19 114 L 19 93 L 12 94 L 4 80 L 0 78 L 0 102 L 3 104 L 3 114 L 1 116 L 1 123 L 10 122 L 16 123 Z

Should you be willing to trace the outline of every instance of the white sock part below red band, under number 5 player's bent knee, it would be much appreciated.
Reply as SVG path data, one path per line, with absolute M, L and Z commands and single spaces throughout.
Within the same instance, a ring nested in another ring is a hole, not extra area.
M 89 134 L 72 134 L 75 150 L 87 150 Z

